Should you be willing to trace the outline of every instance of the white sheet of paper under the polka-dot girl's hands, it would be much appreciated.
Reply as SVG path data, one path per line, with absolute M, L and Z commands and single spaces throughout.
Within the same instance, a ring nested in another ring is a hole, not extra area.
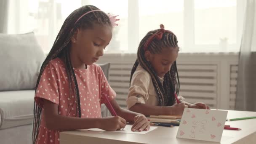
M 131 131 L 131 127 L 132 125 L 126 125 L 125 128 L 123 128 L 122 130 L 120 131 L 108 131 L 108 132 L 112 132 L 112 133 L 134 133 L 134 134 L 146 134 L 150 131 L 153 131 L 155 130 L 157 127 L 156 126 L 150 126 L 150 129 L 149 131 Z M 102 129 L 99 129 L 99 128 L 90 128 L 88 129 L 88 131 L 104 131 Z

